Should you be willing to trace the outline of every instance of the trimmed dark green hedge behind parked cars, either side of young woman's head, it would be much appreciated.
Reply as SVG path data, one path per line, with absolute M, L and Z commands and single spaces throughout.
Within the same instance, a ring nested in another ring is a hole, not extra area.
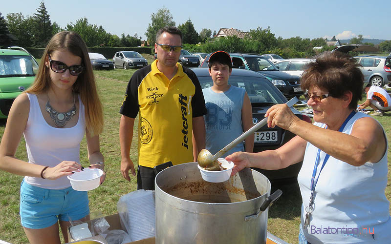
M 103 54 L 107 59 L 112 59 L 114 54 L 119 51 L 136 51 L 138 53 L 152 53 L 152 47 L 88 47 L 88 52 L 90 53 L 100 53 Z M 44 48 L 26 48 L 36 59 L 41 59 L 43 55 Z

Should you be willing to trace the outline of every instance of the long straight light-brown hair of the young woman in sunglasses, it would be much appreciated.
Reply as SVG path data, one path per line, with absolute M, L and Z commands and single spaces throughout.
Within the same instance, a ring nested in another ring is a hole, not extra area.
M 73 55 L 82 58 L 84 71 L 77 77 L 76 82 L 72 86 L 72 90 L 73 92 L 80 94 L 81 100 L 85 106 L 87 130 L 91 135 L 99 135 L 102 132 L 104 125 L 102 103 L 99 100 L 86 43 L 76 32 L 62 31 L 50 39 L 43 52 L 35 81 L 25 92 L 34 94 L 47 92 L 51 80 L 49 75 L 50 67 L 45 65 L 45 61 L 49 54 L 60 49 L 68 50 Z

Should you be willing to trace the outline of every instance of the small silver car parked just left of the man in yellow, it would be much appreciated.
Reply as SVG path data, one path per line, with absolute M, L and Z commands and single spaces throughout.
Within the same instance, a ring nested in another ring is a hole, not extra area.
M 142 68 L 148 65 L 148 61 L 141 54 L 134 51 L 116 52 L 113 57 L 114 69 L 116 68 Z

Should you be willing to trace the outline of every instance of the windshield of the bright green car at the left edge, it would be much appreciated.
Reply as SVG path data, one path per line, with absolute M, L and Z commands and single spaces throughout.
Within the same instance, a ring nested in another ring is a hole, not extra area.
M 0 77 L 35 76 L 38 63 L 31 56 L 0 55 Z

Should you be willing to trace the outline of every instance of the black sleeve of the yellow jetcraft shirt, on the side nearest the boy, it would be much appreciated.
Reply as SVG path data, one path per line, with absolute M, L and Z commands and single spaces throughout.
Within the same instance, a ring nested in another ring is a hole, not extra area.
M 195 86 L 195 93 L 192 99 L 193 118 L 204 116 L 208 110 L 205 106 L 204 94 L 202 93 L 198 78 L 191 69 L 183 67 L 183 71 L 189 76 Z

